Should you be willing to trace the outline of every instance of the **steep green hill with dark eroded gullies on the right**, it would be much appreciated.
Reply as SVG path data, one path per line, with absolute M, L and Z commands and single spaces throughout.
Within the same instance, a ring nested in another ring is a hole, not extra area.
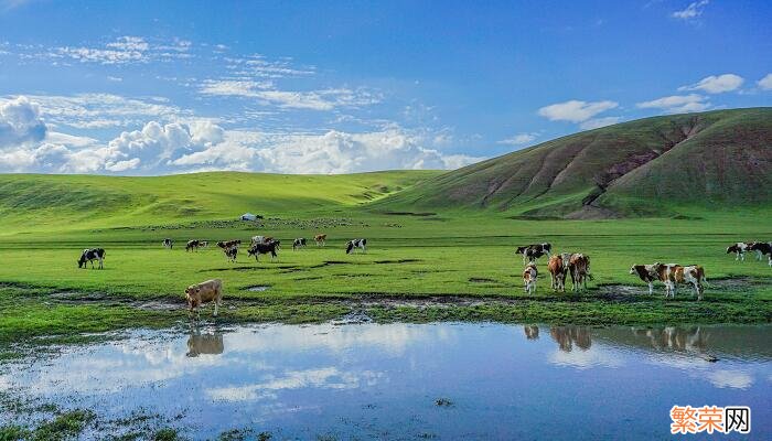
M 750 108 L 571 135 L 439 175 L 374 205 L 608 218 L 771 203 L 772 108 Z

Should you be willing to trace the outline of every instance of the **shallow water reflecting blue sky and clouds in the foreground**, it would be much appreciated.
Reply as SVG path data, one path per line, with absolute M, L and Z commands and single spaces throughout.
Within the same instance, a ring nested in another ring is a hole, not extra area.
M 772 326 L 489 323 L 135 331 L 6 364 L 0 389 L 105 420 L 158 413 L 193 439 L 243 428 L 274 439 L 662 439 L 674 405 L 716 405 L 750 406 L 742 438 L 769 440 L 771 337 Z M 35 418 L 2 412 L 0 424 Z M 739 435 L 694 438 L 714 437 Z

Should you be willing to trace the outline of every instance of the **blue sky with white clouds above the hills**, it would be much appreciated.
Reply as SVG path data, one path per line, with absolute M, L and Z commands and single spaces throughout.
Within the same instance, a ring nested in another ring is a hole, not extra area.
M 772 2 L 0 0 L 0 172 L 455 169 L 772 105 Z

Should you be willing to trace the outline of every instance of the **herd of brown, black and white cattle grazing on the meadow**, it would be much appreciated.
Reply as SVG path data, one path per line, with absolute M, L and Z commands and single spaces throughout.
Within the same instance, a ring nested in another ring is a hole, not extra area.
M 318 247 L 326 245 L 328 236 L 318 234 L 313 237 Z M 171 238 L 163 239 L 164 248 L 173 249 L 174 240 Z M 238 256 L 238 249 L 242 245 L 240 239 L 217 241 L 217 247 L 223 250 L 225 258 L 235 262 Z M 305 248 L 307 239 L 299 237 L 292 240 L 292 250 Z M 200 248 L 206 248 L 208 241 L 192 239 L 185 244 L 186 252 L 197 251 Z M 367 251 L 367 239 L 352 239 L 345 245 L 346 254 L 352 254 L 357 248 L 364 254 Z M 259 261 L 260 255 L 270 255 L 271 260 L 278 257 L 278 251 L 281 248 L 281 240 L 269 236 L 254 236 L 247 249 L 247 256 L 255 256 L 255 260 Z M 772 267 L 772 241 L 740 241 L 730 245 L 727 248 L 727 254 L 735 254 L 735 260 L 746 260 L 747 252 L 755 252 L 757 260 L 762 260 L 764 256 L 768 258 L 768 265 Z M 550 288 L 555 291 L 566 291 L 566 279 L 571 278 L 571 291 L 587 289 L 587 280 L 592 280 L 590 273 L 590 257 L 582 252 L 553 252 L 553 245 L 549 243 L 532 244 L 517 247 L 515 254 L 523 256 L 523 284 L 525 292 L 534 294 L 536 292 L 536 281 L 538 280 L 539 271 L 537 260 L 547 256 L 547 270 L 550 278 Z M 88 262 L 94 268 L 94 261 L 99 262 L 99 269 L 104 268 L 105 249 L 87 248 L 83 250 L 78 259 L 78 268 L 86 268 Z M 679 284 L 691 286 L 697 297 L 697 300 L 703 300 L 705 284 L 707 279 L 705 269 L 699 265 L 677 265 L 677 263 L 661 263 L 652 265 L 633 265 L 630 268 L 630 275 L 637 276 L 643 282 L 648 284 L 648 293 L 654 292 L 654 282 L 660 281 L 665 287 L 665 298 L 675 298 L 676 290 Z M 217 315 L 217 306 L 223 298 L 223 282 L 219 279 L 207 280 L 199 284 L 192 284 L 185 289 L 185 298 L 190 311 L 197 311 L 203 303 L 214 302 L 214 314 Z

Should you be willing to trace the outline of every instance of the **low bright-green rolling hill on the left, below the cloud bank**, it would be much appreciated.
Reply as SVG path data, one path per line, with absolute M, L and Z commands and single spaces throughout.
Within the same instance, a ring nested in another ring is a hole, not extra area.
M 436 176 L 436 171 L 347 175 L 194 173 L 152 178 L 0 175 L 0 233 L 158 225 L 331 213 Z

